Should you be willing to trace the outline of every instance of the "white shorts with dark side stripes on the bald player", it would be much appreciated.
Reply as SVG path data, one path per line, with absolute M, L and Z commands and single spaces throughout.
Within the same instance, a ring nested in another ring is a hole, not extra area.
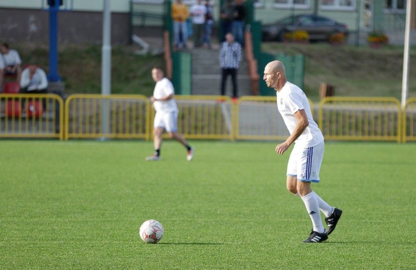
M 324 142 L 312 147 L 293 147 L 288 162 L 287 175 L 298 181 L 319 183 L 319 170 L 324 157 Z

